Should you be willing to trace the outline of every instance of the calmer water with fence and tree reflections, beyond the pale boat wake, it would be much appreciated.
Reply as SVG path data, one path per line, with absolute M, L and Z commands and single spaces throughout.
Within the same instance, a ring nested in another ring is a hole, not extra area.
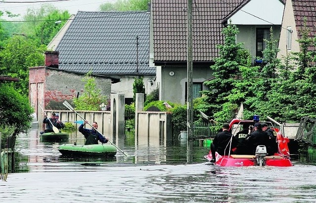
M 157 137 L 153 139 L 139 137 L 138 144 L 134 145 L 134 135 L 126 134 L 118 136 L 115 142 L 122 151 L 129 155 L 128 157 L 118 151 L 115 158 L 69 158 L 62 156 L 58 151 L 58 147 L 64 143 L 84 144 L 85 139 L 81 133 L 78 131 L 71 132 L 67 140 L 49 142 L 40 140 L 39 132 L 39 129 L 31 129 L 28 134 L 21 134 L 17 139 L 16 150 L 19 152 L 21 159 L 19 167 L 21 166 L 23 171 L 25 171 L 25 166 L 28 166 L 30 171 L 64 170 L 69 167 L 64 163 L 78 164 L 79 166 L 84 166 L 82 164 L 88 162 L 99 163 L 99 166 L 101 166 L 100 163 L 128 166 L 200 163 L 204 162 L 203 156 L 208 152 L 208 148 L 200 147 L 198 142 L 190 141 L 188 145 L 187 142 L 167 144 L 162 143 Z M 39 163 L 42 163 L 42 165 Z M 94 165 L 98 166 L 98 164 Z M 19 171 L 19 167 L 17 171 Z

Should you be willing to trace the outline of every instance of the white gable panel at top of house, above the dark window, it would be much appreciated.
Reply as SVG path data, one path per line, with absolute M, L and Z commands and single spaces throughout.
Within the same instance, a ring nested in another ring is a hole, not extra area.
M 283 10 L 280 0 L 251 0 L 229 20 L 235 25 L 281 25 Z

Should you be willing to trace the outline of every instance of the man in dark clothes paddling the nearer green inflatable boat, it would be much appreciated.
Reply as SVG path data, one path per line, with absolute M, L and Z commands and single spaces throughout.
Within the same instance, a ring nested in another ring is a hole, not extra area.
M 90 145 L 90 144 L 98 144 L 98 140 L 102 143 L 107 143 L 109 141 L 108 138 L 106 138 L 105 136 L 101 135 L 99 132 L 97 132 L 96 130 L 98 130 L 98 123 L 97 122 L 93 122 L 92 123 L 92 129 L 86 129 L 83 128 L 83 126 L 88 123 L 87 120 L 85 120 L 78 128 L 79 132 L 82 133 L 82 135 L 84 135 L 85 138 L 85 143 L 84 145 Z

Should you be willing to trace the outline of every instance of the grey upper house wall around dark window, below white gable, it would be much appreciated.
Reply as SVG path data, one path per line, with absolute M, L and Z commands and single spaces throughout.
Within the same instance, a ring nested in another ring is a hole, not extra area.
M 243 47 L 247 49 L 251 56 L 251 62 L 254 63 L 256 58 L 256 29 L 270 28 L 273 30 L 273 40 L 277 40 L 280 35 L 279 26 L 271 25 L 237 25 L 239 33 L 236 36 L 237 43 L 243 43 Z M 277 43 L 276 43 L 277 46 Z

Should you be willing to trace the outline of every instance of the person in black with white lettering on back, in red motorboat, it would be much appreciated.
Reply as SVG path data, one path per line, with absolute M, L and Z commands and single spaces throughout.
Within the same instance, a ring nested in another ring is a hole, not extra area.
M 234 151 L 234 154 L 246 154 L 246 155 L 252 154 L 252 150 L 249 150 L 251 148 L 249 147 L 249 142 L 247 140 L 249 127 L 250 127 L 249 124 L 243 124 L 242 126 L 243 130 L 239 131 L 235 135 L 238 142 L 237 142 L 237 146 L 236 146 L 236 150 Z

